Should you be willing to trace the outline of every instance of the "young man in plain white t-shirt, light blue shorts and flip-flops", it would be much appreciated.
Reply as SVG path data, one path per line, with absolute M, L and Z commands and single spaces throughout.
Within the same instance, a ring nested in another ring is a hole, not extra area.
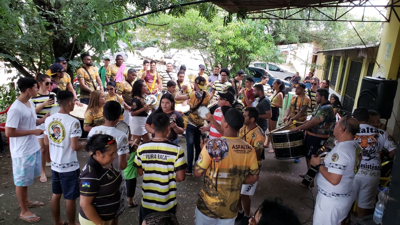
M 21 91 L 20 96 L 10 106 L 6 120 L 6 136 L 10 138 L 10 153 L 12 158 L 12 175 L 16 186 L 16 195 L 21 207 L 20 219 L 35 223 L 40 220 L 28 208 L 44 205 L 39 201 L 28 199 L 28 186 L 35 176 L 40 175 L 40 145 L 36 136 L 43 130 L 36 129 L 44 123 L 48 113 L 37 119 L 35 106 L 30 98 L 38 94 L 36 80 L 23 77 L 17 81 Z

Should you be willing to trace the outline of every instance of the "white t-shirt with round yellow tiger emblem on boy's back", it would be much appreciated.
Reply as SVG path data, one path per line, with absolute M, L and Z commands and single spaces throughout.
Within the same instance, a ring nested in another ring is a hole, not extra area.
M 71 138 L 82 135 L 79 121 L 68 114 L 57 112 L 44 121 L 44 134 L 49 139 L 51 169 L 58 173 L 79 169 L 76 151 L 71 147 Z

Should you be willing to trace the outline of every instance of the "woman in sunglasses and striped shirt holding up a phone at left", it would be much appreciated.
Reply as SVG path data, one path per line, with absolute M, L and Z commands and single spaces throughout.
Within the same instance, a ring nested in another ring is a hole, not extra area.
M 39 87 L 38 95 L 36 97 L 33 97 L 31 100 L 35 105 L 36 115 L 38 119 L 40 119 L 44 117 L 46 113 L 50 112 L 51 107 L 58 106 L 58 104 L 55 96 L 56 94 L 49 91 L 50 87 L 53 84 L 53 82 L 51 82 L 50 80 L 50 76 L 41 73 L 37 74 L 36 81 L 38 82 L 38 87 Z M 54 100 L 53 98 L 50 98 L 50 94 L 54 96 Z M 36 128 L 44 130 L 44 123 L 38 125 Z M 39 135 L 37 137 L 40 145 L 40 155 L 42 156 L 42 167 L 41 167 L 39 181 L 42 183 L 46 183 L 47 182 L 46 166 L 48 167 L 51 166 L 49 147 L 44 145 L 43 135 Z

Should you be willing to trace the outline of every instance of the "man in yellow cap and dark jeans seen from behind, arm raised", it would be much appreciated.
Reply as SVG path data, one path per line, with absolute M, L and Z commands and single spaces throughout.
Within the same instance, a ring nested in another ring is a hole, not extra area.
M 210 100 L 210 96 L 208 92 L 205 90 L 206 88 L 206 79 L 202 76 L 196 77 L 194 80 L 194 91 L 188 94 L 183 94 L 187 86 L 183 85 L 182 90 L 178 91 L 178 94 L 175 96 L 176 101 L 184 101 L 190 100 L 190 111 L 189 111 L 189 119 L 188 124 L 186 125 L 186 149 L 188 151 L 187 163 L 188 168 L 186 169 L 186 175 L 192 175 L 192 165 L 193 165 L 193 157 L 194 151 L 196 150 L 195 159 L 200 155 L 200 137 L 201 131 L 200 127 L 204 125 L 204 119 L 198 115 L 198 108 L 200 106 L 207 106 Z

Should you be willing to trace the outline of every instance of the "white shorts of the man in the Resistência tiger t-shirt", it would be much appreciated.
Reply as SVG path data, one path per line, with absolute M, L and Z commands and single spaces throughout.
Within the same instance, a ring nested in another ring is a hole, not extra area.
M 374 209 L 375 196 L 378 192 L 380 177 L 356 175 L 353 181 L 353 195 L 357 198 L 357 206 L 363 209 Z

